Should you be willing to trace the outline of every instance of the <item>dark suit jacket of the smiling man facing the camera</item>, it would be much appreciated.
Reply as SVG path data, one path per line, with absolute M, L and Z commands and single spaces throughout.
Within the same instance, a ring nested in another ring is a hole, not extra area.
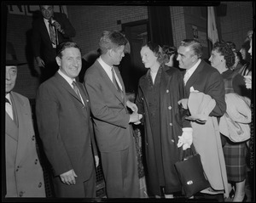
M 77 183 L 90 178 L 96 154 L 90 121 L 90 103 L 84 86 L 78 83 L 84 104 L 58 73 L 38 88 L 36 113 L 39 136 L 55 176 L 71 169 Z

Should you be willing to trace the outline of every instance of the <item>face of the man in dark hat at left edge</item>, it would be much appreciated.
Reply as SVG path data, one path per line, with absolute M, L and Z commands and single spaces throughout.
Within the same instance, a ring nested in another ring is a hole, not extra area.
M 9 93 L 14 87 L 17 78 L 17 66 L 6 65 L 5 93 Z

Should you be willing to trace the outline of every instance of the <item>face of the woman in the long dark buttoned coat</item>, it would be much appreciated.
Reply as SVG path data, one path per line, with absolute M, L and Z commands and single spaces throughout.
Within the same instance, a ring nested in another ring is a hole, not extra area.
M 141 49 L 141 58 L 145 68 L 153 68 L 155 65 L 159 65 L 157 56 L 155 56 L 154 52 L 148 46 L 144 46 Z

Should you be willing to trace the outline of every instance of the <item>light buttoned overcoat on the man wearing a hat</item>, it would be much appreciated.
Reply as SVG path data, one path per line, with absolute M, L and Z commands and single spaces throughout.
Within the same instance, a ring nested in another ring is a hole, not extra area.
M 10 93 L 18 124 L 5 112 L 6 197 L 45 197 L 29 101 Z

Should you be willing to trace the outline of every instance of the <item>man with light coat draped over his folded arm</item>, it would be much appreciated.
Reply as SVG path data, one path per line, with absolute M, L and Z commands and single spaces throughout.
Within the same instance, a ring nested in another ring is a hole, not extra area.
M 226 104 L 224 99 L 224 81 L 218 70 L 214 69 L 211 65 L 208 65 L 203 59 L 201 59 L 202 54 L 203 52 L 201 43 L 193 39 L 183 40 L 181 42 L 181 45 L 177 49 L 177 61 L 179 63 L 179 67 L 186 70 L 184 72 L 183 78 L 185 84 L 186 99 L 180 100 L 179 104 L 182 104 L 184 109 L 188 109 L 188 98 L 190 91 L 193 89 L 195 91 L 205 93 L 216 102 L 216 105 L 214 109 L 210 112 L 209 116 L 217 117 L 217 119 L 219 120 L 219 118 L 224 115 L 226 110 Z M 218 131 L 218 121 L 216 122 L 217 124 L 213 125 L 214 127 L 216 127 L 214 132 Z M 216 172 L 218 170 L 220 171 L 220 173 L 222 172 L 222 174 L 218 174 L 218 176 L 214 178 L 208 177 L 211 188 L 205 189 L 201 192 L 205 194 L 210 194 L 210 196 L 206 195 L 206 198 L 209 198 L 211 197 L 211 195 L 213 195 L 213 198 L 224 200 L 223 193 L 227 192 L 225 191 L 227 186 L 227 179 L 224 166 L 224 155 L 220 141 L 220 134 L 216 133 L 216 136 L 214 135 L 214 138 L 212 138 L 213 140 L 216 140 L 215 143 L 208 143 L 207 141 L 211 139 L 208 138 L 207 140 L 205 140 L 205 138 L 207 138 L 207 136 L 204 136 L 205 133 L 209 135 L 214 134 L 214 132 L 210 132 L 210 129 L 208 129 L 208 132 L 206 132 L 206 130 L 203 128 L 205 125 L 198 124 L 195 121 L 192 121 L 191 125 L 193 127 L 193 138 L 189 138 L 189 140 L 193 139 L 195 149 L 201 155 L 202 165 L 205 172 L 208 174 L 208 170 L 206 169 L 209 168 L 211 164 L 213 165 L 212 167 L 210 167 L 211 170 L 215 169 Z M 204 129 L 204 132 L 200 132 L 200 129 Z M 212 151 L 212 153 L 210 153 L 210 150 L 213 148 L 214 150 Z M 219 153 L 218 149 L 221 149 Z M 215 160 L 217 160 L 216 164 L 214 164 Z M 214 183 L 212 183 L 212 179 L 214 180 Z

